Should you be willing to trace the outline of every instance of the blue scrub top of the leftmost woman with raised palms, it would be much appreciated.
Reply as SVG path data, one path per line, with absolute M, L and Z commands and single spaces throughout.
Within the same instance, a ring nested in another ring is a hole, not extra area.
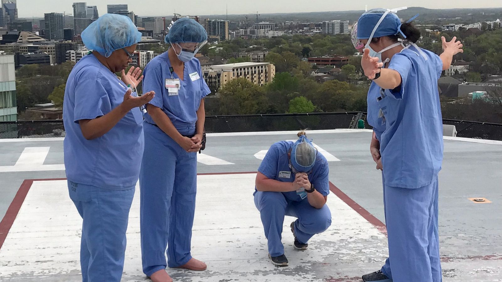
M 78 121 L 109 113 L 123 102 L 128 87 L 94 55 L 71 71 L 63 103 L 64 164 L 68 180 L 100 188 L 136 186 L 144 150 L 140 108 L 129 111 L 107 133 L 93 140 L 82 135 Z

